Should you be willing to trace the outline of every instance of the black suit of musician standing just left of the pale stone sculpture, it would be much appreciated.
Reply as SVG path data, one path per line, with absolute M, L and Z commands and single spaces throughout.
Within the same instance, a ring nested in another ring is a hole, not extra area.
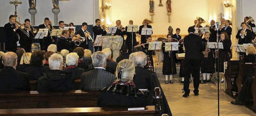
M 105 36 L 107 34 L 106 30 L 102 29 L 100 26 L 93 26 L 92 27 L 93 35 L 94 35 L 94 41 L 96 40 L 97 35 Z M 94 46 L 95 52 L 101 51 L 102 46 Z

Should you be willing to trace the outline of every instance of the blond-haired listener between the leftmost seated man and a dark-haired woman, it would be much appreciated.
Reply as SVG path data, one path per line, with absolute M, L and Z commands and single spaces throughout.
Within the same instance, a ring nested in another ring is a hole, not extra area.
M 20 72 L 26 72 L 25 69 L 30 66 L 31 53 L 23 53 L 20 59 L 20 65 L 16 67 L 16 70 Z

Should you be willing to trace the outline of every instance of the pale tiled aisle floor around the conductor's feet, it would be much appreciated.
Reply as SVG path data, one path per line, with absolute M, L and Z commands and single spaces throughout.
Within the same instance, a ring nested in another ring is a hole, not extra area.
M 214 84 L 200 84 L 199 96 L 190 92 L 188 98 L 182 97 L 183 85 L 180 85 L 178 74 L 174 76 L 174 84 L 164 84 L 165 77 L 162 75 L 162 63 L 154 65 L 159 81 L 164 90 L 173 116 L 218 116 L 217 86 Z M 177 67 L 177 73 L 179 67 Z M 223 85 L 222 85 L 223 86 Z M 193 84 L 190 84 L 193 90 Z M 256 116 L 254 112 L 245 106 L 230 104 L 234 100 L 224 93 L 224 87 L 220 90 L 220 116 Z

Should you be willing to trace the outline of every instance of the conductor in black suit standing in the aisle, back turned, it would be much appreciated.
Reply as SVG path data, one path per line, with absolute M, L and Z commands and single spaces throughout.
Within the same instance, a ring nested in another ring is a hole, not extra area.
M 183 97 L 188 97 L 189 90 L 189 79 L 190 74 L 194 76 L 194 95 L 199 95 L 199 77 L 200 77 L 200 62 L 202 58 L 202 38 L 194 34 L 194 27 L 188 28 L 188 36 L 184 38 L 184 47 L 185 47 L 185 78 L 183 90 L 185 94 Z

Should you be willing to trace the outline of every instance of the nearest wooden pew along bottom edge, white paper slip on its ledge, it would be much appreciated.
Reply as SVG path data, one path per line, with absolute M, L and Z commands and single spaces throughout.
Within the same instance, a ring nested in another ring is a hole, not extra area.
M 136 107 L 135 107 L 136 108 Z M 160 116 L 155 106 L 145 110 L 128 111 L 128 108 L 42 108 L 42 109 L 2 109 L 0 116 Z

